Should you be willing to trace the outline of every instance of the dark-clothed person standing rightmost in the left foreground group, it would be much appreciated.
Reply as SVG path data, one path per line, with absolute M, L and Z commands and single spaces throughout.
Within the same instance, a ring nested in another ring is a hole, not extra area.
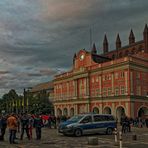
M 41 129 L 43 127 L 43 121 L 42 118 L 39 115 L 36 115 L 34 119 L 34 127 L 36 130 L 36 139 L 40 140 L 41 139 Z

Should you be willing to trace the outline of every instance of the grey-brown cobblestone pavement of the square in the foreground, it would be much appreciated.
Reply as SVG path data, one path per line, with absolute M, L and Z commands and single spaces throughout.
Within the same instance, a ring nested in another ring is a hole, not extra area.
M 120 128 L 119 128 L 120 130 Z M 137 140 L 133 140 L 133 135 L 137 135 Z M 88 145 L 88 137 L 97 137 L 98 145 Z M 17 137 L 20 137 L 17 134 Z M 26 135 L 22 141 L 17 140 L 18 144 L 9 144 L 8 131 L 5 135 L 5 141 L 0 141 L 0 148 L 119 148 L 115 145 L 114 135 L 87 135 L 82 137 L 63 136 L 56 129 L 43 128 L 42 139 L 35 140 L 33 130 L 33 139 L 28 140 Z M 148 148 L 148 128 L 133 128 L 131 133 L 123 134 L 123 148 Z

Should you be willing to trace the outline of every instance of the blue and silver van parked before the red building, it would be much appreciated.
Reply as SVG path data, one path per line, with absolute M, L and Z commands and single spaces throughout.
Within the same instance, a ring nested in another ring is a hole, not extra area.
M 116 120 L 110 114 L 80 114 L 62 122 L 58 131 L 64 135 L 75 135 L 77 137 L 99 132 L 110 135 L 116 127 Z

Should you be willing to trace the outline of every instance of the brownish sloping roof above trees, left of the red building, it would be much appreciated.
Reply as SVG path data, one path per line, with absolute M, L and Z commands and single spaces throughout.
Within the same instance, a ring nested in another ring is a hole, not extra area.
M 53 82 L 52 81 L 40 83 L 40 84 L 34 86 L 31 89 L 31 92 L 39 92 L 39 91 L 42 91 L 42 90 L 51 90 L 51 89 L 53 89 Z

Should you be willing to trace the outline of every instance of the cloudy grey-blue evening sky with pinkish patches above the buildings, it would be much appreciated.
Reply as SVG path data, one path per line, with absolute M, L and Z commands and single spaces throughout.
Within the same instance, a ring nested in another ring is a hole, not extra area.
M 109 50 L 117 33 L 127 45 L 131 28 L 142 40 L 147 8 L 147 0 L 0 0 L 0 97 L 70 70 L 75 53 L 90 51 L 90 29 L 98 53 L 104 34 Z

